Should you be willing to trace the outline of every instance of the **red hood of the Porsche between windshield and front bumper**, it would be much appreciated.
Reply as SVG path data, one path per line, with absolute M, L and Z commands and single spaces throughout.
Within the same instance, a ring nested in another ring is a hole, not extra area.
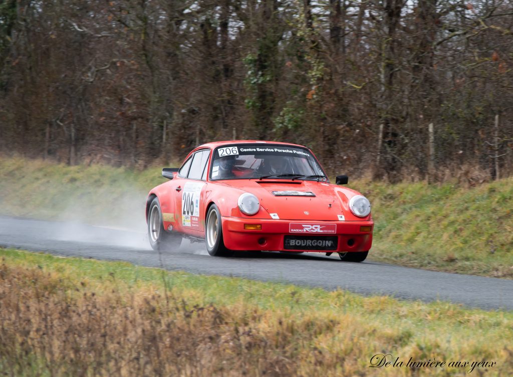
M 361 221 L 349 211 L 348 201 L 356 191 L 330 183 L 306 180 L 226 180 L 223 183 L 258 197 L 260 205 L 284 220 Z M 273 193 L 274 192 L 274 193 Z M 313 193 L 314 196 L 300 196 Z M 278 195 L 283 196 L 278 196 Z

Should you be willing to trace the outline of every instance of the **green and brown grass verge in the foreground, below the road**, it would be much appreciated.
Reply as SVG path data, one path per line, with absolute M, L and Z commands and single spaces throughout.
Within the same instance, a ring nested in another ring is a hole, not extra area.
M 0 257 L 6 375 L 513 374 L 511 312 L 12 249 Z M 379 353 L 404 364 L 369 368 Z M 411 369 L 409 358 L 446 364 Z

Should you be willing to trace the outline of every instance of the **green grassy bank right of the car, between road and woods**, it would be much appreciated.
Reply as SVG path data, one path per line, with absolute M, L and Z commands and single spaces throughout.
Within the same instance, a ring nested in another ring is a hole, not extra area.
M 513 178 L 461 187 L 363 182 L 376 226 L 371 258 L 513 279 Z

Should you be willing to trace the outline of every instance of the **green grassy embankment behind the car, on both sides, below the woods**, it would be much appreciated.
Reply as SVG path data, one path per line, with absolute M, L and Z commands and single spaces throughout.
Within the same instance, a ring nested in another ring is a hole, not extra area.
M 0 212 L 119 226 L 144 224 L 145 196 L 164 182 L 142 172 L 0 159 Z M 513 278 L 513 178 L 465 188 L 453 184 L 350 181 L 376 222 L 370 259 Z

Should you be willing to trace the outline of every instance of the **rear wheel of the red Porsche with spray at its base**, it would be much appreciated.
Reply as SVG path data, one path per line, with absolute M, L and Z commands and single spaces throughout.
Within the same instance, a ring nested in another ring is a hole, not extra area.
M 168 232 L 162 222 L 162 210 L 159 199 L 155 198 L 148 211 L 148 239 L 151 248 L 159 252 L 173 251 L 180 247 L 182 235 L 177 232 Z

